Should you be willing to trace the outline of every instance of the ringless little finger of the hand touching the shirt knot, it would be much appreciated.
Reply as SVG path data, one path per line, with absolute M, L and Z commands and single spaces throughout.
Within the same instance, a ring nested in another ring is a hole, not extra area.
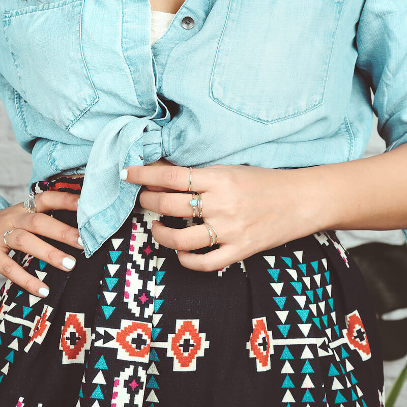
M 219 249 L 205 254 L 180 250 L 178 250 L 177 254 L 180 263 L 185 268 L 197 271 L 215 271 L 242 260 L 236 249 L 227 244 L 221 244 Z

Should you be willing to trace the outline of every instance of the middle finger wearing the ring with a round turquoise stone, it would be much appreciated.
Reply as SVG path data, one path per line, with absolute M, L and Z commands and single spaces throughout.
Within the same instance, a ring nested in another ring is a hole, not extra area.
M 202 216 L 211 216 L 208 210 L 211 206 L 207 206 L 208 194 L 202 195 Z M 191 205 L 192 193 L 168 193 L 168 192 L 153 192 L 144 190 L 140 193 L 140 205 L 144 209 L 149 209 L 161 215 L 190 217 L 193 215 L 193 207 Z M 195 195 L 195 216 L 198 216 L 199 196 Z M 203 202 L 205 201 L 205 211 L 203 211 Z

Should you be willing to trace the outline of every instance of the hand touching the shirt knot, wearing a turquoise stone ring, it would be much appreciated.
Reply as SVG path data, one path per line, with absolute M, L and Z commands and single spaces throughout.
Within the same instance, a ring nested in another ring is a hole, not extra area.
M 319 199 L 310 185 L 303 185 L 303 172 L 298 169 L 247 165 L 193 168 L 189 193 L 185 193 L 189 167 L 150 165 L 127 170 L 127 182 L 147 186 L 140 192 L 140 205 L 162 215 L 192 217 L 192 192 L 201 193 L 202 218 L 216 230 L 218 249 L 206 254 L 189 252 L 210 246 L 204 224 L 184 229 L 172 229 L 159 221 L 152 224 L 154 240 L 176 249 L 180 263 L 192 270 L 219 270 L 323 230 L 323 225 L 318 224 Z M 123 172 L 121 176 L 125 178 Z

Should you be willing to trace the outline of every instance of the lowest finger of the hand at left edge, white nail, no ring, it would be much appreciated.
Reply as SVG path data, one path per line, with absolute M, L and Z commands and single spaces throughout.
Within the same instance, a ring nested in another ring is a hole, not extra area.
M 38 278 L 32 276 L 30 273 L 27 273 L 7 254 L 1 251 L 0 274 L 37 297 L 44 298 L 49 294 L 48 285 L 44 284 Z

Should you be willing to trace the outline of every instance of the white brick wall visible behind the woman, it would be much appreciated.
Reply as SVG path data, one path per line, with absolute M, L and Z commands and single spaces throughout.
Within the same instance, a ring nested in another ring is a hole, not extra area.
M 374 128 L 376 126 L 376 122 Z M 373 131 L 367 155 L 379 154 L 384 151 L 384 141 L 376 131 Z M 13 205 L 23 201 L 28 195 L 28 182 L 31 179 L 32 162 L 30 154 L 24 152 L 15 140 L 14 131 L 10 124 L 3 103 L 0 101 L 0 195 Z M 356 246 L 363 240 L 383 241 L 391 244 L 403 244 L 404 236 L 401 231 L 371 232 L 338 232 L 338 236 L 345 247 Z M 0 236 L 1 238 L 1 236 Z M 0 276 L 0 285 L 4 278 Z M 385 362 L 386 391 L 407 362 L 407 357 L 395 361 Z M 404 386 L 399 398 L 400 407 L 407 404 L 407 386 Z M 404 404 L 403 404 L 404 403 Z

